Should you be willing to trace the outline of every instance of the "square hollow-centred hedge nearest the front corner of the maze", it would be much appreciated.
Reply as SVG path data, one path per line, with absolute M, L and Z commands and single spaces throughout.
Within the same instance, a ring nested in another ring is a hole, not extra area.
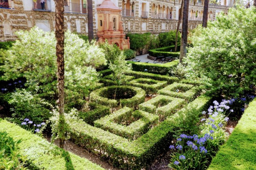
M 158 116 L 124 107 L 94 122 L 95 127 L 129 140 L 136 139 L 158 123 Z

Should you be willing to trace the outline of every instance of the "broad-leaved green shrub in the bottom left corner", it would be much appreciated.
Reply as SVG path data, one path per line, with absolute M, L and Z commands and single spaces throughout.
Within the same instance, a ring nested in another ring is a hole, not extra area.
M 25 169 L 26 156 L 20 153 L 19 143 L 0 131 L 0 169 Z

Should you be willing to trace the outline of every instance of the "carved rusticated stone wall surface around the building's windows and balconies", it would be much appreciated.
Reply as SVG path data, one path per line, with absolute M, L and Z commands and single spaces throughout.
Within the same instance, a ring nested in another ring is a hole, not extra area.
M 26 0 L 30 1 L 30 0 Z M 52 0 L 53 1 L 53 0 Z M 94 35 L 97 36 L 97 5 L 101 4 L 103 0 L 93 0 L 93 15 L 94 15 Z M 124 33 L 144 33 L 151 32 L 158 34 L 160 32 L 167 32 L 169 30 L 175 30 L 177 27 L 177 13 L 180 8 L 178 1 L 175 2 L 169 0 L 113 0 L 119 8 L 123 8 L 122 4 L 129 3 L 130 7 L 133 4 L 134 16 L 122 16 Z M 142 2 L 147 9 L 147 16 L 142 18 Z M 32 3 L 32 0 L 31 0 Z M 52 12 L 45 11 L 27 11 L 24 10 L 23 0 L 11 1 L 11 9 L 0 8 L 0 41 L 14 40 L 16 39 L 15 32 L 19 30 L 29 30 L 34 26 L 38 26 L 44 31 L 54 31 L 55 25 L 55 13 L 54 3 L 52 2 Z M 152 7 L 157 7 L 158 10 L 165 15 L 171 11 L 172 19 L 166 18 L 154 18 Z M 228 6 L 209 4 L 209 17 L 210 20 L 215 19 L 216 13 L 223 11 L 227 13 Z M 27 6 L 26 6 L 27 9 Z M 200 18 L 195 18 L 195 14 L 200 14 L 203 10 L 201 4 L 191 5 L 189 7 L 190 17 L 188 27 L 194 29 L 198 24 L 201 24 Z M 211 14 L 210 14 L 211 13 Z M 194 16 L 194 18 L 193 18 Z M 88 34 L 87 27 L 87 14 L 82 13 L 65 13 L 65 29 L 69 29 L 72 32 L 78 32 L 82 34 Z

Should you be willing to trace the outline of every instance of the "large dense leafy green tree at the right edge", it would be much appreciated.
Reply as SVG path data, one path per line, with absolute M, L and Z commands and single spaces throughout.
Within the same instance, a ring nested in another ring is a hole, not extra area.
M 185 63 L 215 93 L 238 97 L 256 85 L 256 9 L 230 8 L 207 28 L 199 27 Z

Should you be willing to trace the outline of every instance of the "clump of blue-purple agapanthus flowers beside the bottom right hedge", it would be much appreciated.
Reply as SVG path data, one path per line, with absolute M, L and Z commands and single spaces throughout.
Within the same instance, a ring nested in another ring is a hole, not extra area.
M 210 106 L 208 112 L 202 112 L 201 132 L 194 135 L 181 134 L 177 138 L 176 145 L 169 147 L 176 151 L 171 155 L 170 168 L 205 169 L 219 146 L 225 142 L 227 133 L 224 127 L 229 119 L 225 113 L 233 112 L 227 105 L 232 101 L 223 100 L 221 103 L 217 101 L 213 103 L 214 106 Z

